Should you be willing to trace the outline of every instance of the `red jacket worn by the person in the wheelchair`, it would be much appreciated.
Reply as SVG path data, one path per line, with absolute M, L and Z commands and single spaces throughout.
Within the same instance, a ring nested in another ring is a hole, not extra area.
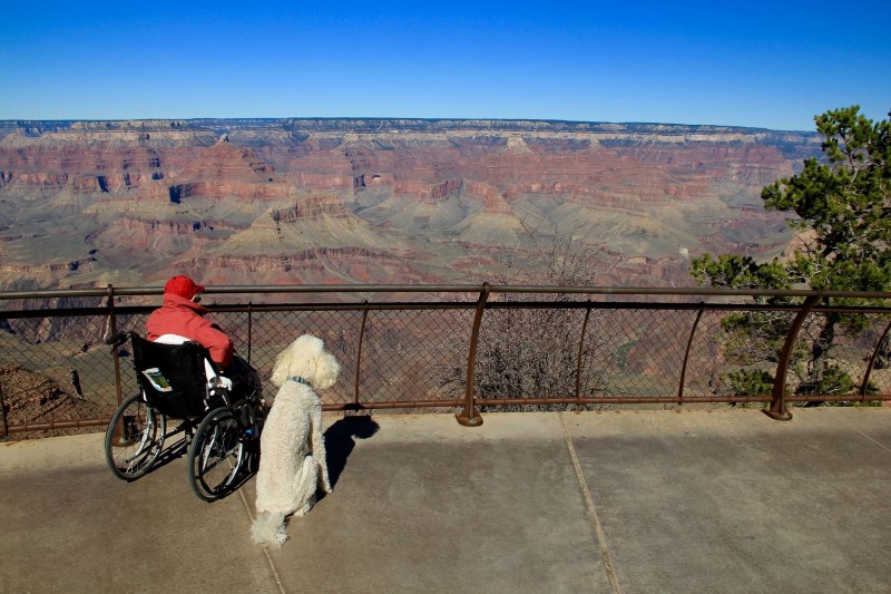
M 148 340 L 163 334 L 179 334 L 199 342 L 210 352 L 210 359 L 228 367 L 235 354 L 235 345 L 216 324 L 206 320 L 207 308 L 174 293 L 164 293 L 164 305 L 151 312 L 146 321 Z

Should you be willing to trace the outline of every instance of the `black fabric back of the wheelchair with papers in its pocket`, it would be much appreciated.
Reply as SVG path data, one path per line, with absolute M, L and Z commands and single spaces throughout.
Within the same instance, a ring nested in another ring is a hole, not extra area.
M 131 337 L 134 368 L 149 406 L 167 417 L 203 417 L 210 408 L 204 361 L 207 350 L 195 342 L 161 344 Z

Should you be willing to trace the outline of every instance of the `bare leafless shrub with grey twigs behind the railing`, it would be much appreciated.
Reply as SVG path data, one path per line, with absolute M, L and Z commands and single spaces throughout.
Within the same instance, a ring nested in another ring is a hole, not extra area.
M 529 246 L 496 254 L 496 265 L 480 266 L 482 279 L 515 286 L 594 286 L 621 261 L 608 252 L 607 246 L 615 242 L 606 231 L 591 242 L 571 234 L 545 235 L 527 222 L 523 230 Z M 608 390 L 614 370 L 594 364 L 596 353 L 605 347 L 603 334 L 586 332 L 582 340 L 586 317 L 587 328 L 594 329 L 600 310 L 564 308 L 588 295 L 520 292 L 497 299 L 489 304 L 480 327 L 474 368 L 480 406 L 484 407 L 486 399 L 516 399 L 516 405 L 486 408 L 548 410 L 564 405 L 523 405 L 523 400 L 590 397 Z M 446 340 L 467 343 L 466 337 L 457 334 Z M 579 360 L 584 364 L 579 366 Z M 460 361 L 443 364 L 441 384 L 463 383 L 466 369 Z

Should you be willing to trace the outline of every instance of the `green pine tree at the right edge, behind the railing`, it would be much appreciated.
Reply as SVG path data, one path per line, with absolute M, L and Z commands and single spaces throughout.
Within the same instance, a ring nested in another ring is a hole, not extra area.
M 891 289 L 891 123 L 873 123 L 860 106 L 826 111 L 814 121 L 824 136 L 823 158 L 806 159 L 801 173 L 777 179 L 761 194 L 767 210 L 790 214 L 786 221 L 801 244 L 794 255 L 756 262 L 746 255 L 705 254 L 691 265 L 698 283 L 734 289 Z M 756 301 L 775 305 L 789 298 Z M 825 302 L 851 304 L 844 299 Z M 728 315 L 722 324 L 728 333 L 725 354 L 754 364 L 776 361 L 789 318 L 751 312 Z M 795 352 L 799 393 L 848 393 L 853 381 L 832 363 L 830 351 L 839 332 L 856 334 L 865 328 L 863 315 L 814 317 L 803 332 L 809 339 Z M 737 391 L 758 387 L 770 391 L 762 371 L 735 374 L 731 382 Z

